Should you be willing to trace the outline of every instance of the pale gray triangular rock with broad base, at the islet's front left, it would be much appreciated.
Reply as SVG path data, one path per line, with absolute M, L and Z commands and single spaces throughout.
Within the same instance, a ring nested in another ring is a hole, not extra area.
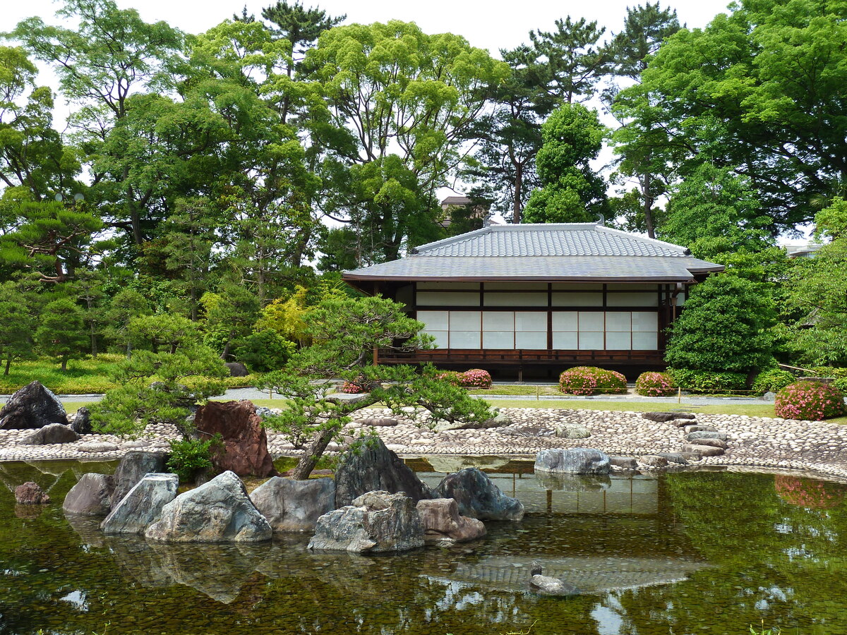
M 234 472 L 177 496 L 144 533 L 147 540 L 171 543 L 249 543 L 273 534 Z

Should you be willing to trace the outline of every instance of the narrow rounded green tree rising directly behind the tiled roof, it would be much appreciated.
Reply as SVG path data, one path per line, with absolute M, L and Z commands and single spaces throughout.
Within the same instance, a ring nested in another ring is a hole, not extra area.
M 590 223 L 606 213 L 606 184 L 590 167 L 605 135 L 593 110 L 566 103 L 553 111 L 535 157 L 542 187 L 529 196 L 524 222 Z

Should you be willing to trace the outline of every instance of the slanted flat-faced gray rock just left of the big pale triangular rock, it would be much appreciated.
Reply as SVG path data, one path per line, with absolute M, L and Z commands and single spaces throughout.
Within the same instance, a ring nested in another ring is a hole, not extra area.
M 176 474 L 147 474 L 112 507 L 100 523 L 105 533 L 144 533 L 158 519 L 164 505 L 176 497 Z

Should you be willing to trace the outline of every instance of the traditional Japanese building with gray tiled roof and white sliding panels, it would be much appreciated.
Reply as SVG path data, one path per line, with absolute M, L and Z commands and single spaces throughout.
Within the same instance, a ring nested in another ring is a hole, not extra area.
M 689 287 L 722 265 L 684 247 L 590 223 L 496 225 L 347 271 L 403 303 L 438 348 L 380 363 L 457 369 L 663 367 L 665 329 Z

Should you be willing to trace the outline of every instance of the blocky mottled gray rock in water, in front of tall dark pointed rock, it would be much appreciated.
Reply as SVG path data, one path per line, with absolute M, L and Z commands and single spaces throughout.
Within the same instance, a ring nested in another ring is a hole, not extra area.
M 376 553 L 424 546 L 424 523 L 405 494 L 368 492 L 318 518 L 309 549 Z

